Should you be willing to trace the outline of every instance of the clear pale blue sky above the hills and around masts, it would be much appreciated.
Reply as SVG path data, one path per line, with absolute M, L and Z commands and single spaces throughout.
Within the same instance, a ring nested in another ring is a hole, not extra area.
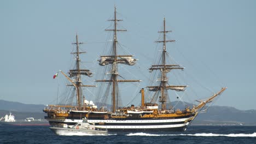
M 228 87 L 214 105 L 256 109 L 256 1 L 249 0 L 1 1 L 0 99 L 44 105 L 56 99 L 53 75 L 68 71 L 76 33 L 85 41 L 88 67 L 97 70 L 114 5 L 124 19 L 120 28 L 128 30 L 118 34 L 119 41 L 139 59 L 141 87 L 147 80 L 139 74 L 148 75 L 154 62 L 165 17 L 173 31 L 168 38 L 176 40 L 167 51 L 186 74 L 214 92 Z

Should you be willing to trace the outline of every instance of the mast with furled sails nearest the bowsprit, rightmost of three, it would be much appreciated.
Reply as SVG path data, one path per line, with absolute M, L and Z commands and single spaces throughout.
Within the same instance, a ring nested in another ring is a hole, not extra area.
M 161 64 L 152 65 L 149 70 L 160 70 L 161 71 L 161 78 L 160 78 L 160 85 L 159 86 L 149 86 L 149 91 L 160 91 L 159 102 L 161 103 L 161 110 L 166 110 L 166 101 L 167 101 L 167 90 L 172 89 L 176 91 L 184 91 L 185 87 L 187 86 L 167 86 L 168 77 L 166 74 L 170 72 L 172 69 L 184 69 L 181 65 L 176 64 L 166 64 L 166 43 L 173 42 L 175 40 L 166 40 L 166 33 L 172 31 L 166 31 L 165 29 L 165 17 L 164 17 L 164 31 L 160 31 L 159 33 L 163 33 L 164 37 L 161 41 L 155 41 L 156 43 L 162 43 L 162 55 L 161 55 Z M 153 100 L 153 99 L 152 99 Z M 152 101 L 151 101 L 152 102 Z

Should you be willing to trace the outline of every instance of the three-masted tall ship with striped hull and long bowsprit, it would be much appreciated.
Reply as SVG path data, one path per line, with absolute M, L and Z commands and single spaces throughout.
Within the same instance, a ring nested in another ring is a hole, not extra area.
M 98 60 L 102 67 L 106 67 L 106 75 L 102 80 L 96 82 L 107 85 L 105 94 L 97 94 L 98 101 L 92 102 L 85 99 L 85 93 L 82 92 L 83 87 L 96 87 L 93 85 L 83 85 L 81 76 L 91 76 L 91 71 L 81 69 L 79 51 L 78 35 L 76 35 L 76 51 L 72 52 L 75 55 L 75 67 L 69 70 L 68 74 L 60 71 L 70 84 L 75 89 L 74 97 L 75 104 L 62 105 L 48 105 L 43 110 L 47 113 L 47 119 L 53 127 L 71 128 L 76 123 L 83 122 L 83 118 L 88 119 L 89 123 L 94 123 L 96 127 L 107 129 L 108 131 L 184 131 L 186 127 L 193 122 L 197 114 L 203 107 L 213 101 L 218 95 L 225 91 L 225 87 L 221 88 L 219 92 L 214 93 L 205 100 L 200 100 L 199 104 L 194 106 L 187 106 L 183 110 L 175 109 L 170 103 L 168 91 L 184 92 L 186 85 L 169 85 L 168 73 L 174 70 L 184 70 L 182 65 L 167 63 L 167 47 L 166 43 L 174 40 L 167 40 L 166 33 L 171 32 L 166 30 L 165 18 L 164 29 L 159 33 L 162 34 L 162 39 L 156 43 L 162 43 L 161 55 L 158 57 L 156 64 L 152 65 L 149 70 L 156 76 L 154 85 L 147 87 L 147 92 L 144 88 L 140 90 L 141 104 L 123 106 L 119 84 L 124 83 L 129 85 L 131 82 L 140 82 L 141 80 L 126 80 L 119 74 L 119 65 L 135 65 L 137 59 L 133 55 L 121 55 L 118 51 L 118 32 L 124 32 L 126 29 L 118 29 L 116 7 L 114 9 L 114 19 L 109 20 L 114 22 L 112 29 L 106 31 L 113 31 L 113 43 L 108 55 L 100 57 Z M 123 68 L 123 67 L 121 67 Z M 97 91 L 103 91 L 98 87 Z M 131 89 L 131 91 L 133 91 Z M 151 92 L 151 93 L 149 93 Z M 146 98 L 150 98 L 146 101 Z M 108 104 L 110 101 L 110 104 Z

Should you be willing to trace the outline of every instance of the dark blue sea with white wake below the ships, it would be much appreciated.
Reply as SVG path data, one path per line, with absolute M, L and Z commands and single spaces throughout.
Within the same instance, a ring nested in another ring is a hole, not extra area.
M 196 126 L 184 132 L 57 136 L 49 126 L 0 125 L 0 143 L 256 143 L 256 126 Z

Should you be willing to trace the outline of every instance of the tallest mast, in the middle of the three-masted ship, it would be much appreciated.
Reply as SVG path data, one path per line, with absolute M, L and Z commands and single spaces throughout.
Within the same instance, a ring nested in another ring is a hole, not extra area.
M 118 63 L 133 65 L 135 64 L 136 59 L 133 59 L 132 55 L 118 55 L 117 52 L 117 32 L 127 31 L 126 29 L 117 29 L 117 22 L 123 21 L 117 19 L 117 8 L 114 9 L 114 19 L 108 20 L 114 22 L 114 29 L 105 29 L 105 31 L 113 31 L 114 32 L 114 41 L 113 41 L 113 51 L 110 56 L 101 56 L 100 65 L 104 66 L 106 64 L 112 64 L 112 70 L 110 72 L 110 80 L 96 80 L 97 82 L 112 82 L 112 112 L 115 112 L 117 109 L 117 103 L 119 99 L 118 91 L 118 82 L 139 82 L 140 80 L 118 80 Z

